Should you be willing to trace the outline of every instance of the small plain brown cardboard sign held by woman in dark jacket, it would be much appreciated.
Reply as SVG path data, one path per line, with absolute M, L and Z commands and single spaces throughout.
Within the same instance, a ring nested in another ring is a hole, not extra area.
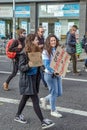
M 30 61 L 33 63 L 32 67 L 42 66 L 42 55 L 41 52 L 28 53 Z

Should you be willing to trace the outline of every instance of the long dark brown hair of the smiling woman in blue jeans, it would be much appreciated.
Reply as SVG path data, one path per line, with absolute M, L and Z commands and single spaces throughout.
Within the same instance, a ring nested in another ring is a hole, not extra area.
M 52 47 L 50 46 L 50 39 L 51 39 L 51 37 L 55 37 L 55 39 L 56 39 L 56 48 L 59 45 L 59 39 L 54 34 L 50 34 L 46 38 L 46 42 L 44 44 L 44 49 L 47 50 L 49 56 L 52 54 Z

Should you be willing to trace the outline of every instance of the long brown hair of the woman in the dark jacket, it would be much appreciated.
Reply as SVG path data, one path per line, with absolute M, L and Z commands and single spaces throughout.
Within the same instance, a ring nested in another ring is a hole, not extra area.
M 28 52 L 40 52 L 39 46 L 33 44 L 33 41 L 37 37 L 36 34 L 28 34 L 25 40 L 25 51 Z

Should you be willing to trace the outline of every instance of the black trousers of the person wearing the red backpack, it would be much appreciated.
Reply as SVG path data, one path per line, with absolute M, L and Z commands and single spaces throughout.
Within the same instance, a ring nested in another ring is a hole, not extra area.
M 15 59 L 13 59 L 12 60 L 12 64 L 13 64 L 13 70 L 12 70 L 12 73 L 9 75 L 9 77 L 6 80 L 7 84 L 9 84 L 9 82 L 11 81 L 11 79 L 13 77 L 15 77 L 16 74 L 17 74 L 17 72 L 18 72 L 18 62 Z

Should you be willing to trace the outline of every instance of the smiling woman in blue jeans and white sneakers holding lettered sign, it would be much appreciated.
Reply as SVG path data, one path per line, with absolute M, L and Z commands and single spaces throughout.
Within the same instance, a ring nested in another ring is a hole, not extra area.
M 50 63 L 58 46 L 59 40 L 55 35 L 51 34 L 46 38 L 46 43 L 42 52 L 42 60 L 45 66 L 44 79 L 48 85 L 49 95 L 40 98 L 40 101 L 44 109 L 46 109 L 47 102 L 49 102 L 51 116 L 60 118 L 62 115 L 56 110 L 56 100 L 57 97 L 62 95 L 62 78 L 50 67 Z

